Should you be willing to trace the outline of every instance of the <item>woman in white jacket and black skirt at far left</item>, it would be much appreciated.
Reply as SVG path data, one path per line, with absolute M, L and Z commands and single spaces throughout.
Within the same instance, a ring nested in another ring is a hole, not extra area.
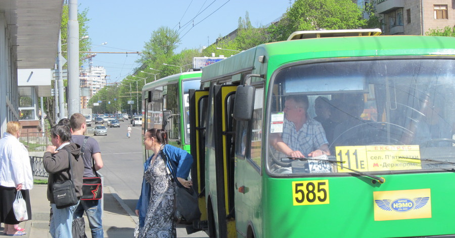
M 9 236 L 26 234 L 24 229 L 17 225 L 23 220 L 31 219 L 28 190 L 33 188 L 33 175 L 28 151 L 18 140 L 21 128 L 19 122 L 8 122 L 7 132 L 0 139 L 0 222 L 5 223 L 3 233 Z M 20 196 L 25 200 L 26 218 L 16 218 L 13 209 L 16 197 Z

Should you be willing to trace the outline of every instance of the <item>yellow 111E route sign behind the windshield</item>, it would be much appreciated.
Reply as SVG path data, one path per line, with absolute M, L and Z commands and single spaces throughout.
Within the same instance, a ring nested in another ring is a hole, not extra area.
M 338 172 L 422 169 L 419 145 L 337 146 Z

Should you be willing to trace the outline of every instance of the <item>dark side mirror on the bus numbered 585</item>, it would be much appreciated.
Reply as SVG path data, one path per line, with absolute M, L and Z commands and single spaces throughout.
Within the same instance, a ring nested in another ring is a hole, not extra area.
M 236 91 L 234 102 L 234 118 L 238 121 L 250 121 L 254 110 L 254 93 L 256 89 L 251 85 L 240 85 Z

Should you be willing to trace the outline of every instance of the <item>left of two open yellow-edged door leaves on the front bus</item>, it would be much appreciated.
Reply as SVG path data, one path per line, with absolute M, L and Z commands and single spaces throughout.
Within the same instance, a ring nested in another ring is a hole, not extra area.
M 190 141 L 191 155 L 193 155 L 193 167 L 191 178 L 193 186 L 199 194 L 200 221 L 207 220 L 205 205 L 205 129 L 208 90 L 194 90 L 189 92 L 190 111 Z M 203 228 L 198 225 L 195 228 Z M 205 227 L 204 227 L 205 228 Z

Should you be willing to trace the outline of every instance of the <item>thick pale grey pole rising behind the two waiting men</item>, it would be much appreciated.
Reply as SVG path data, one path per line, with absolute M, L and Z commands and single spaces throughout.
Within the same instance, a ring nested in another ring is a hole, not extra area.
M 77 0 L 69 0 L 68 16 L 68 115 L 71 115 L 80 112 Z

